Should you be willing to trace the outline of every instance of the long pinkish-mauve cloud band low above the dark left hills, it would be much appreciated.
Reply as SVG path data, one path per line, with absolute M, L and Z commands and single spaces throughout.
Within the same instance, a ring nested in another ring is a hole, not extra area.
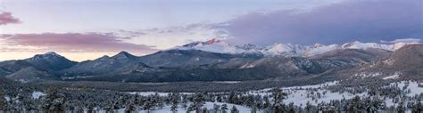
M 43 33 L 2 35 L 0 52 L 120 52 L 150 53 L 154 46 L 124 42 L 111 33 Z

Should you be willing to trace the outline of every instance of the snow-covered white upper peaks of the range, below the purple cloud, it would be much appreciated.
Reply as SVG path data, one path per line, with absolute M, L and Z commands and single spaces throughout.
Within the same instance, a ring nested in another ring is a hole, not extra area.
M 386 51 L 394 52 L 407 44 L 419 44 L 419 43 L 395 43 L 395 44 L 377 44 L 377 43 L 361 43 L 358 41 L 346 44 L 314 44 L 314 45 L 302 45 L 302 44 L 272 44 L 268 46 L 258 46 L 254 44 L 244 45 L 233 45 L 228 44 L 222 40 L 213 38 L 206 42 L 194 42 L 177 46 L 172 49 L 178 50 L 201 50 L 204 52 L 219 52 L 219 53 L 230 53 L 230 54 L 242 54 L 242 53 L 257 53 L 264 56 L 302 56 L 311 57 L 324 52 L 329 52 L 336 49 L 362 49 L 366 50 L 369 48 L 382 49 Z

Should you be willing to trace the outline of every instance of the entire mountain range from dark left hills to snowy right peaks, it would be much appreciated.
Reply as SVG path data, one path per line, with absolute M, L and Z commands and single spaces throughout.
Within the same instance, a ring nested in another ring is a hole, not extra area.
M 47 52 L 25 60 L 0 62 L 0 77 L 22 82 L 245 81 L 334 75 L 343 79 L 394 79 L 421 75 L 421 50 L 423 46 L 418 43 L 258 46 L 232 45 L 211 39 L 145 56 L 119 52 L 112 57 L 81 62 Z

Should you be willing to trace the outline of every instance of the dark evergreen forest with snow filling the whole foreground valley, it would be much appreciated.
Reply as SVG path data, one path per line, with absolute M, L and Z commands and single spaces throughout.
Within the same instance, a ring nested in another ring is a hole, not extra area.
M 1 80 L 1 79 L 0 79 Z M 294 91 L 272 89 L 266 94 L 230 92 L 230 93 L 169 93 L 169 95 L 143 96 L 115 92 L 103 89 L 85 89 L 72 87 L 51 87 L 43 85 L 20 84 L 17 82 L 0 81 L 0 112 L 94 112 L 104 110 L 116 112 L 118 109 L 127 112 L 139 110 L 153 111 L 170 107 L 169 112 L 180 112 L 179 109 L 193 111 L 196 113 L 237 113 L 239 108 L 232 106 L 236 104 L 250 108 L 252 113 L 285 113 L 285 112 L 417 112 L 423 111 L 421 101 L 423 94 L 406 96 L 410 93 L 407 90 L 408 84 L 398 87 L 393 85 L 347 85 L 338 86 L 324 85 L 319 88 L 308 88 L 308 97 L 315 100 L 305 105 L 295 105 L 284 102 L 290 98 L 286 95 Z M 367 93 L 367 96 L 354 97 L 329 102 L 316 103 L 325 92 L 316 92 L 319 89 L 327 89 L 328 92 L 336 93 Z M 40 91 L 46 95 L 36 99 L 32 93 Z M 376 98 L 378 97 L 378 98 Z M 385 99 L 384 99 L 385 98 Z M 396 106 L 387 106 L 386 99 L 392 100 Z M 206 108 L 206 101 L 222 102 L 228 104 L 215 104 Z M 229 104 L 230 103 L 230 104 Z

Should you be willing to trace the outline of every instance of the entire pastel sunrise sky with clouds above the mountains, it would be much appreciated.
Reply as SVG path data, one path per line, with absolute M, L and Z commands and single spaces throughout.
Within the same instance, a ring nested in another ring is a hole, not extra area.
M 193 41 L 395 43 L 423 39 L 421 0 L 0 0 L 0 61 L 145 55 Z

